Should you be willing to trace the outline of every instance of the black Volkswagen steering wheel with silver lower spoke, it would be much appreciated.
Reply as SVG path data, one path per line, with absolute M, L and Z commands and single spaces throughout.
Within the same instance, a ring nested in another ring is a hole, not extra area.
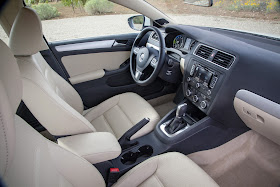
M 158 36 L 159 46 L 153 47 L 143 42 L 144 36 L 154 31 Z M 152 83 L 158 76 L 165 61 L 165 41 L 158 28 L 147 27 L 136 37 L 130 53 L 130 73 L 140 86 Z

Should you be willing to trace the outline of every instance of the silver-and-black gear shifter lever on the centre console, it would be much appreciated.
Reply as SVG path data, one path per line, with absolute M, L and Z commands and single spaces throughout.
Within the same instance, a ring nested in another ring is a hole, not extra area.
M 187 124 L 183 120 L 183 116 L 186 114 L 188 105 L 183 103 L 177 107 L 176 117 L 174 120 L 166 127 L 166 130 L 170 134 L 174 134 L 184 128 Z

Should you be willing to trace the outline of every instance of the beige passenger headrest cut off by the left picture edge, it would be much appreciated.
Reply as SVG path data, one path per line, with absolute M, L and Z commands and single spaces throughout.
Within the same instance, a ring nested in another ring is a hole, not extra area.
M 2 40 L 0 40 L 0 58 L 0 81 L 15 114 L 22 98 L 22 81 L 16 59 Z

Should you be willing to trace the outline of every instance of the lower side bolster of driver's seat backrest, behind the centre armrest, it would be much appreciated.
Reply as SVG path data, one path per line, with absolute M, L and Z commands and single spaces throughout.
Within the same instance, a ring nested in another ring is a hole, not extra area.
M 22 78 L 22 80 L 23 101 L 52 135 L 63 136 L 95 132 L 95 128 L 88 120 L 52 90 L 43 89 L 30 79 Z

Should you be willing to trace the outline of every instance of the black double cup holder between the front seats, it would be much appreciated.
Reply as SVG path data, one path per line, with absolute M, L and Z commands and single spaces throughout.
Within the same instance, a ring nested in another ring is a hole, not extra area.
M 121 162 L 125 165 L 134 164 L 140 157 L 150 157 L 153 154 L 153 148 L 150 145 L 140 147 L 135 153 L 129 151 L 122 155 Z

